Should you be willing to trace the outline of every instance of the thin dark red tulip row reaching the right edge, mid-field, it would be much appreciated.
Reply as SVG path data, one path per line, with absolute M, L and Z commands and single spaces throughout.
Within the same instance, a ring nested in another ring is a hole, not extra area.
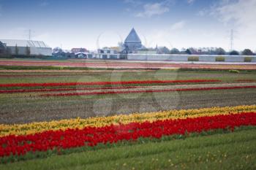
M 157 93 L 168 91 L 196 91 L 196 90 L 228 90 L 238 88 L 256 88 L 256 85 L 248 86 L 231 86 L 231 87 L 214 87 L 214 88 L 178 88 L 178 89 L 163 89 L 163 90 L 127 90 L 127 91 L 94 91 L 84 93 L 48 93 L 40 96 L 90 96 L 90 95 L 102 95 L 102 94 L 123 94 L 123 93 Z

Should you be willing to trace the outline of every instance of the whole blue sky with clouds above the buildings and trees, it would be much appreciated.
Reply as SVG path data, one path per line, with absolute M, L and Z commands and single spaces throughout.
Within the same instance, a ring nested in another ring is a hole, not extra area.
M 116 46 L 132 27 L 146 47 L 256 50 L 256 0 L 0 0 L 0 39 L 50 47 Z

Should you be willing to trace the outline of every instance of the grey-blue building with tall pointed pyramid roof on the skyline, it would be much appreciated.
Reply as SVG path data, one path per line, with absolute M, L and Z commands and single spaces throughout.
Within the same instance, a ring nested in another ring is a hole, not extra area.
M 132 28 L 132 31 L 129 32 L 129 35 L 124 40 L 124 50 L 122 53 L 137 53 L 142 48 L 143 45 L 141 44 L 140 37 L 135 31 L 135 28 Z

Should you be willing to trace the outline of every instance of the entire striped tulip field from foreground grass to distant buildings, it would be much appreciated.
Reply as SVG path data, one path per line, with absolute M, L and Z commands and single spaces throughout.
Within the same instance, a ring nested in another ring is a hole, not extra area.
M 256 169 L 254 65 L 1 63 L 0 169 Z

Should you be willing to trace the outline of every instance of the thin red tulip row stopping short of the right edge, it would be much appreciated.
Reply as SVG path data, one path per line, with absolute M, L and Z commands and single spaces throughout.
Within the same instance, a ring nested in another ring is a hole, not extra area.
M 0 84 L 0 88 L 8 87 L 53 87 L 73 85 L 129 85 L 129 84 L 166 84 L 166 83 L 189 83 L 189 82 L 221 82 L 220 80 L 145 80 L 127 82 L 48 82 L 48 83 L 12 83 Z

